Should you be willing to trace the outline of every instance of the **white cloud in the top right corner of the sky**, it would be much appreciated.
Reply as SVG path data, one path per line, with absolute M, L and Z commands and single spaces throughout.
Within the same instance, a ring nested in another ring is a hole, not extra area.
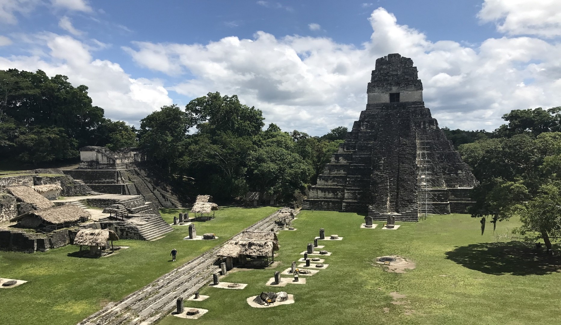
M 485 0 L 478 17 L 482 22 L 495 22 L 502 33 L 561 36 L 559 0 Z

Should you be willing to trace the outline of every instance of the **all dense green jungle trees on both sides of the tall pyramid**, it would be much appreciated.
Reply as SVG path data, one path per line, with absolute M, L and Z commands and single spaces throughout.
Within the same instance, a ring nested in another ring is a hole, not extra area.
M 497 221 L 519 214 L 527 240 L 561 237 L 561 107 L 516 109 L 493 132 L 443 128 L 480 181 L 473 217 Z M 88 87 L 45 72 L 0 70 L 0 155 L 30 166 L 79 157 L 85 145 L 142 147 L 170 176 L 192 180 L 193 193 L 232 200 L 247 191 L 301 199 L 347 134 L 337 127 L 309 136 L 264 130 L 263 114 L 236 95 L 209 93 L 183 109 L 164 106 L 140 129 L 104 117 Z M 485 226 L 482 220 L 482 230 Z M 550 245 L 548 245 L 550 246 Z

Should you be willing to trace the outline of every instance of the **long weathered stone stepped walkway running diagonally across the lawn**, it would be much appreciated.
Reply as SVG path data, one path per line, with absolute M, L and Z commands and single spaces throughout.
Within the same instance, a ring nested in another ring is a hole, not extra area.
M 278 230 L 275 223 L 277 214 L 278 212 L 275 212 L 243 231 L 276 231 Z M 117 303 L 109 303 L 78 325 L 148 325 L 159 321 L 171 312 L 178 297 L 187 298 L 212 280 L 212 274 L 219 270 L 219 267 L 214 264 L 218 259 L 217 253 L 223 245 L 201 254 L 126 296 L 125 299 Z

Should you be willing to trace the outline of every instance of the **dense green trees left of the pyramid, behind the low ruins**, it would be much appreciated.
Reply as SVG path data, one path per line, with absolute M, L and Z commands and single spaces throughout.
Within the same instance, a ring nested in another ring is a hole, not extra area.
M 347 128 L 318 137 L 283 132 L 274 123 L 263 130 L 264 120 L 259 109 L 241 104 L 236 95 L 209 93 L 185 109 L 162 107 L 136 130 L 105 118 L 103 108 L 92 105 L 88 87 L 74 87 L 66 76 L 0 70 L 0 157 L 17 169 L 72 161 L 86 145 L 142 147 L 170 176 L 194 180 L 193 193 L 218 200 L 249 190 L 286 202 L 301 198 Z

